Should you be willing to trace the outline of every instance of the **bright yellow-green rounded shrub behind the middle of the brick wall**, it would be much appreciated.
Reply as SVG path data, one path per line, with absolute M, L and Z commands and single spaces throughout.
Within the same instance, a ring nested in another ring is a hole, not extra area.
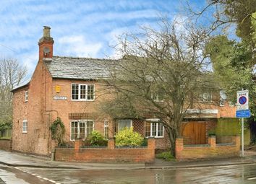
M 143 137 L 133 128 L 124 128 L 116 134 L 116 146 L 141 146 Z

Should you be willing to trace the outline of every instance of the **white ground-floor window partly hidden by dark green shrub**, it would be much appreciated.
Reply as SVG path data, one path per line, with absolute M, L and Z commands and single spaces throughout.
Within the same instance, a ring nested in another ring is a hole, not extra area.
M 91 120 L 72 121 L 70 123 L 70 139 L 85 139 L 94 130 L 94 122 Z

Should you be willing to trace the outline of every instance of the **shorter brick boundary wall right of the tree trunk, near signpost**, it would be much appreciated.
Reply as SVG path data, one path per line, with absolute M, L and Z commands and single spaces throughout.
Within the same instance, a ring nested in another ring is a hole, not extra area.
M 231 143 L 216 144 L 216 136 L 208 137 L 208 144 L 184 145 L 183 138 L 176 139 L 176 159 L 202 159 L 239 157 L 240 137 L 231 136 Z

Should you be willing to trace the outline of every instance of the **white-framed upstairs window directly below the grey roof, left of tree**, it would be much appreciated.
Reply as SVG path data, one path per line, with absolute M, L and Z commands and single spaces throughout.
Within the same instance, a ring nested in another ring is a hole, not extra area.
M 72 100 L 95 100 L 94 84 L 72 84 Z

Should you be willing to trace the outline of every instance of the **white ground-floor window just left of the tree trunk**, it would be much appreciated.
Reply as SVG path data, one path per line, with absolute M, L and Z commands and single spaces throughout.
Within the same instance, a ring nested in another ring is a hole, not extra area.
M 163 137 L 163 124 L 162 123 L 145 123 L 145 137 Z

